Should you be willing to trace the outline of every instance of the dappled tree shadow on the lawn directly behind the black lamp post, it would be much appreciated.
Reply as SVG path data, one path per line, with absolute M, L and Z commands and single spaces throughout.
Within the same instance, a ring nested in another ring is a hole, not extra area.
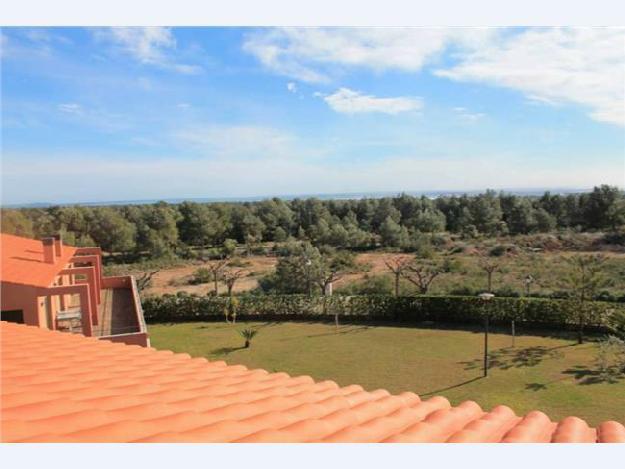
M 557 359 L 563 356 L 560 349 L 573 347 L 572 344 L 559 345 L 557 347 L 545 347 L 537 345 L 523 348 L 503 348 L 488 354 L 488 368 L 508 370 L 510 368 L 524 368 L 536 366 L 546 359 Z M 469 361 L 458 362 L 464 365 L 465 370 L 476 370 L 482 368 L 484 359 L 482 357 Z

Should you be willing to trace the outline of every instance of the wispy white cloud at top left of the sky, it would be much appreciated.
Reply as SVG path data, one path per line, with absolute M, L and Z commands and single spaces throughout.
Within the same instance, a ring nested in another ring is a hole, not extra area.
M 96 29 L 97 39 L 110 42 L 125 54 L 146 65 L 155 65 L 183 74 L 202 71 L 197 65 L 176 63 L 172 51 L 176 49 L 176 38 L 170 28 L 165 27 L 113 27 Z

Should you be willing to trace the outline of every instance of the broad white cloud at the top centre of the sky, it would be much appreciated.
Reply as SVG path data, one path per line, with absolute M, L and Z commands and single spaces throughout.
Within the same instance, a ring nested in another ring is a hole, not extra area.
M 488 28 L 281 28 L 247 37 L 243 49 L 270 70 L 307 82 L 328 81 L 329 64 L 409 72 L 450 44 L 477 47 Z

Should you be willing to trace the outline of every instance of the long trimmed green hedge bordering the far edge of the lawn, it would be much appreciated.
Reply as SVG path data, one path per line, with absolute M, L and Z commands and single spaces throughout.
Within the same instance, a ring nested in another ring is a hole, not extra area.
M 228 298 L 195 295 L 148 297 L 143 302 L 148 322 L 223 320 Z M 267 295 L 236 299 L 237 318 L 242 320 L 326 320 L 335 315 L 346 321 L 482 322 L 486 314 L 493 322 L 516 320 L 541 326 L 614 329 L 623 317 L 621 305 L 601 301 L 537 298 L 493 298 L 488 302 L 467 296 L 313 296 Z

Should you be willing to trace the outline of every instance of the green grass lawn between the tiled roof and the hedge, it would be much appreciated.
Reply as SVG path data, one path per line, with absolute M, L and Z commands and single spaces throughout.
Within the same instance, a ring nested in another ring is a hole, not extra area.
M 259 329 L 249 349 L 238 330 Z M 310 375 L 365 389 L 440 394 L 452 404 L 471 399 L 484 409 L 506 404 L 552 419 L 577 415 L 589 423 L 625 422 L 625 378 L 602 381 L 596 345 L 520 335 L 516 347 L 491 333 L 490 376 L 482 376 L 483 334 L 466 330 L 321 323 L 183 323 L 149 327 L 152 345 L 250 368 Z

